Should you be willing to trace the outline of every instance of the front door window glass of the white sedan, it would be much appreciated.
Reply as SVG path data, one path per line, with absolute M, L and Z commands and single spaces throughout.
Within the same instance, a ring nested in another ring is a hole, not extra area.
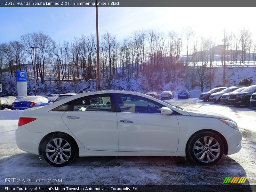
M 161 108 L 164 107 L 155 101 L 133 95 L 120 95 L 116 102 L 120 112 L 161 113 Z

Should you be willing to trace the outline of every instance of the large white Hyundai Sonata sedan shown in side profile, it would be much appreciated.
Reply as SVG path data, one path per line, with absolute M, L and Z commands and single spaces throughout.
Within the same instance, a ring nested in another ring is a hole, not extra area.
M 230 118 L 129 91 L 87 92 L 24 111 L 18 147 L 54 166 L 75 156 L 187 156 L 201 165 L 241 149 Z

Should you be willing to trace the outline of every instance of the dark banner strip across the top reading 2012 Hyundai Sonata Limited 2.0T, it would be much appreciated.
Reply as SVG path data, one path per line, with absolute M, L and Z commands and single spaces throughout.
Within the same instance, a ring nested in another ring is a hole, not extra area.
M 255 7 L 252 0 L 14 0 L 0 7 Z

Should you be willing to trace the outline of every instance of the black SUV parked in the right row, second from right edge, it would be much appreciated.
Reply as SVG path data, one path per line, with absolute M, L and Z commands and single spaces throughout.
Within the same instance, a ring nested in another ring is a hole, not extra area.
M 230 93 L 228 97 L 228 103 L 236 107 L 240 105 L 245 105 L 245 107 L 250 106 L 250 98 L 252 93 L 256 92 L 256 85 L 251 85 L 246 87 L 241 92 Z

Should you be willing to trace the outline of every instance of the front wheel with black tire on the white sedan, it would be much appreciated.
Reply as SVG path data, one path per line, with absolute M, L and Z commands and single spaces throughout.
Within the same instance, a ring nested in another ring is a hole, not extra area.
M 206 143 L 204 143 L 204 138 L 206 138 Z M 212 141 L 208 146 L 207 144 L 209 144 L 210 138 Z M 200 146 L 201 144 L 199 144 L 198 140 L 203 144 L 203 146 Z M 202 131 L 194 134 L 190 137 L 186 146 L 186 155 L 195 163 L 200 165 L 216 164 L 220 161 L 223 153 L 224 145 L 222 140 L 217 134 L 211 131 Z M 196 154 L 198 155 L 196 156 Z

